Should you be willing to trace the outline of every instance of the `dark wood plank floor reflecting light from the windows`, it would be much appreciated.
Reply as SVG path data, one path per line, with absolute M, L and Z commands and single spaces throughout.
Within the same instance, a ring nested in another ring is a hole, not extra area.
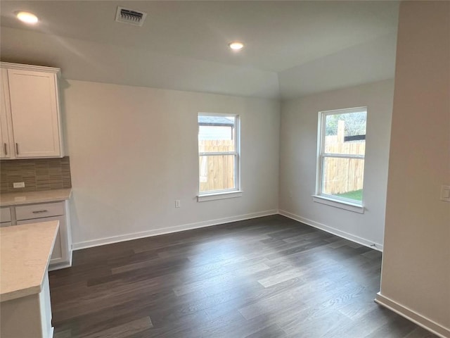
M 373 302 L 381 254 L 281 215 L 75 251 L 55 338 L 435 337 Z

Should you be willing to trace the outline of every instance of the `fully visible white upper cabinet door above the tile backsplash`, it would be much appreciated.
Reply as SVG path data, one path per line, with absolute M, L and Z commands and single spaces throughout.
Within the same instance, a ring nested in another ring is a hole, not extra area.
M 15 157 L 58 157 L 56 74 L 8 69 Z

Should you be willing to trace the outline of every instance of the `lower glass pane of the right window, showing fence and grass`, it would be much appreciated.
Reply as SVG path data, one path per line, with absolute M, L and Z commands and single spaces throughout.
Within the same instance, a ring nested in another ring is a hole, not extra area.
M 324 157 L 322 194 L 362 201 L 364 160 Z

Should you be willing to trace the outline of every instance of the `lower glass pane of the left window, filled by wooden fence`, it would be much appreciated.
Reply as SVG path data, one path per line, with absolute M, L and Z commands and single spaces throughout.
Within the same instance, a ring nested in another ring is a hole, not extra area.
M 200 192 L 234 189 L 236 177 L 234 155 L 200 156 Z

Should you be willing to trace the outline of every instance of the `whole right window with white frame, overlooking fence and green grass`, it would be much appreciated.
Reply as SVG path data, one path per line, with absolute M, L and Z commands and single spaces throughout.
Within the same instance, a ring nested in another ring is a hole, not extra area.
M 362 207 L 366 117 L 366 107 L 319 113 L 316 197 Z

